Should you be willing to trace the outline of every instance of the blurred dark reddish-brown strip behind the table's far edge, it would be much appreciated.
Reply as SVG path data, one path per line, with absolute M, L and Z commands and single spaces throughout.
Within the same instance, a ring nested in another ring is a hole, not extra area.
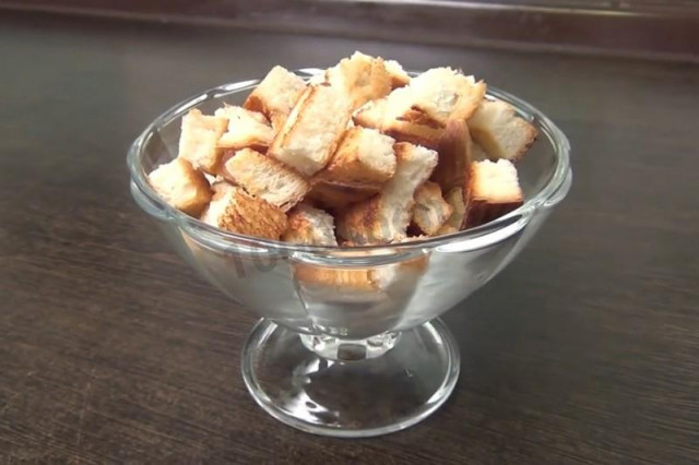
M 699 0 L 0 0 L 0 8 L 696 61 Z

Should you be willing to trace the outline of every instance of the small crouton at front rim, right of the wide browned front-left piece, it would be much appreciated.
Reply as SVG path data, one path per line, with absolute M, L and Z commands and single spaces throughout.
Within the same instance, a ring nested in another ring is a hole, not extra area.
M 335 220 L 320 208 L 297 205 L 288 215 L 288 229 L 282 235 L 282 240 L 311 246 L 336 246 Z

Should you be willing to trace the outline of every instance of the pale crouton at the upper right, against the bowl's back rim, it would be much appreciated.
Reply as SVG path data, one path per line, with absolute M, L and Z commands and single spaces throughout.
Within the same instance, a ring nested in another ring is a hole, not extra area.
M 485 100 L 469 120 L 474 141 L 491 158 L 519 159 L 536 140 L 536 128 L 502 100 Z

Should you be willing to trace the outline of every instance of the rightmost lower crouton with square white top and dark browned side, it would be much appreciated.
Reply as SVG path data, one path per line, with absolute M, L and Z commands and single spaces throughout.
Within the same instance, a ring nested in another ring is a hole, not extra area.
M 489 223 L 524 201 L 517 168 L 507 159 L 472 163 L 466 196 L 466 228 Z

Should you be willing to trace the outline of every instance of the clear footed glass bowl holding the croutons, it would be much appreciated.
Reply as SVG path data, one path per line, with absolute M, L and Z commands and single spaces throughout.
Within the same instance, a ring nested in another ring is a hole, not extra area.
M 321 72 L 296 71 L 310 79 Z M 239 306 L 262 317 L 242 350 L 257 403 L 304 431 L 345 438 L 407 428 L 435 412 L 459 378 L 459 347 L 438 317 L 498 274 L 568 193 L 564 133 L 521 99 L 540 135 L 518 166 L 525 203 L 447 236 L 358 248 L 297 246 L 216 229 L 171 208 L 147 174 L 177 156 L 180 117 L 240 105 L 259 80 L 222 85 L 156 118 L 133 142 L 131 193 L 175 250 Z

